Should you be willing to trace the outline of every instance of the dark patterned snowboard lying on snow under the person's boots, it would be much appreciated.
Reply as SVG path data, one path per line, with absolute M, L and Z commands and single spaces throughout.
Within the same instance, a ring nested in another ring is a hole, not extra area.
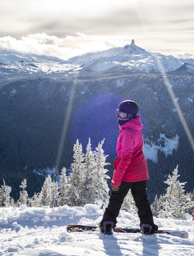
M 68 232 L 84 232 L 84 231 L 96 231 L 100 230 L 99 227 L 84 226 L 84 225 L 68 225 Z M 142 230 L 139 228 L 114 228 L 112 229 L 115 233 L 141 233 Z M 176 231 L 176 230 L 158 230 L 154 234 L 168 234 L 171 236 L 178 236 L 181 238 L 188 238 L 187 231 Z

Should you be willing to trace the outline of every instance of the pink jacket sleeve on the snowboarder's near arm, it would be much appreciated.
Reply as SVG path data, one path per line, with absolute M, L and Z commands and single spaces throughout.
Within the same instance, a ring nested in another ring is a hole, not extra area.
M 122 150 L 119 157 L 120 162 L 114 171 L 111 186 L 120 186 L 123 175 L 125 174 L 128 165 L 131 163 L 133 154 L 134 139 L 132 134 L 126 129 L 120 135 L 120 140 L 122 143 Z

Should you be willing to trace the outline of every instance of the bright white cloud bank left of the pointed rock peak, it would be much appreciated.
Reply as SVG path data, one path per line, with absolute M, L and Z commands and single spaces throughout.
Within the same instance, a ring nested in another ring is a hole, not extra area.
M 129 43 L 78 32 L 75 37 L 67 35 L 65 38 L 49 36 L 45 33 L 30 34 L 21 39 L 4 36 L 0 37 L 0 54 L 47 55 L 67 60 L 76 55 L 122 47 Z

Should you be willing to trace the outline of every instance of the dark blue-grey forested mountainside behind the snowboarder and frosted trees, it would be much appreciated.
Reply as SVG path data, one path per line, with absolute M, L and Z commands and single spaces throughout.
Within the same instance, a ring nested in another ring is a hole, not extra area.
M 4 71 L 5 72 L 5 71 Z M 91 138 L 92 149 L 104 140 L 104 154 L 111 165 L 116 156 L 119 134 L 116 109 L 122 100 L 138 103 L 144 143 L 158 146 L 157 159 L 147 159 L 150 179 L 148 195 L 165 193 L 163 181 L 179 165 L 180 181 L 193 191 L 194 154 L 180 122 L 162 74 L 114 67 L 106 71 L 79 73 L 27 74 L 13 71 L 2 75 L 0 86 L 0 182 L 12 187 L 11 196 L 19 197 L 19 186 L 27 179 L 29 196 L 41 190 L 45 177 L 33 170 L 70 168 L 76 140 L 86 148 Z M 194 77 L 175 70 L 166 74 L 194 137 Z M 179 146 L 165 154 L 165 140 L 179 136 Z M 110 181 L 109 181 L 110 182 Z

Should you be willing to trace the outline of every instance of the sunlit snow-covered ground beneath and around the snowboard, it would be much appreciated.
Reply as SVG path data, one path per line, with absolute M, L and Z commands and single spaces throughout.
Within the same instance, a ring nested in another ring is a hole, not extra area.
M 188 231 L 188 239 L 166 234 L 67 233 L 69 224 L 98 225 L 102 214 L 98 205 L 1 207 L 0 255 L 194 255 L 194 221 L 190 215 L 187 220 L 155 218 L 159 229 Z M 138 228 L 138 215 L 121 211 L 117 227 Z

